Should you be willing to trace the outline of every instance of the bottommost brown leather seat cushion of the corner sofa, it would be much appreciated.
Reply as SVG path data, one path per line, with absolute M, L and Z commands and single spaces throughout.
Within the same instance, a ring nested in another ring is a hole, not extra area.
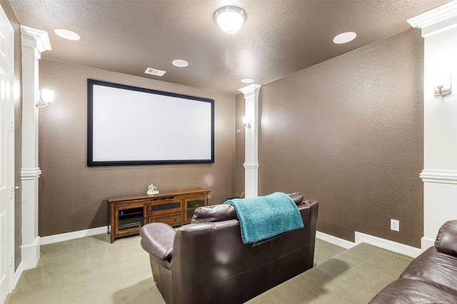
M 421 281 L 399 278 L 387 285 L 369 304 L 457 303 L 457 296 Z

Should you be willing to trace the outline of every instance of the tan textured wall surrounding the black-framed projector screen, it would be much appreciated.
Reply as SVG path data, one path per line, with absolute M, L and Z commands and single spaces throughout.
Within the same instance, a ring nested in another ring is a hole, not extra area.
M 56 94 L 39 113 L 40 236 L 104 226 L 106 196 L 141 194 L 151 182 L 162 191 L 208 187 L 211 204 L 233 195 L 235 96 L 43 59 L 39 73 Z M 87 78 L 214 99 L 214 164 L 86 167 Z

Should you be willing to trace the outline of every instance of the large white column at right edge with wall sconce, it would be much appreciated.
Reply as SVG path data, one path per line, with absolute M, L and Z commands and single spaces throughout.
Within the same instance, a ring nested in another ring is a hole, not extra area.
M 457 1 L 409 19 L 424 38 L 423 238 L 425 251 L 440 226 L 457 219 Z M 436 96 L 450 82 L 453 92 Z

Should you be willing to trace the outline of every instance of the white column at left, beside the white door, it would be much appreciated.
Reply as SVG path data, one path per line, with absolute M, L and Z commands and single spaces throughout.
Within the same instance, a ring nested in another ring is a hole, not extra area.
M 38 107 L 41 52 L 51 50 L 49 36 L 21 26 L 22 46 L 22 263 L 24 270 L 36 267 L 40 258 L 38 236 Z

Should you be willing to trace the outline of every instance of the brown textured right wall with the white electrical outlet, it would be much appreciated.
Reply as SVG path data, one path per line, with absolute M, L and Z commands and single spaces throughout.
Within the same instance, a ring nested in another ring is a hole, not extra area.
M 341 239 L 354 241 L 360 231 L 420 247 L 420 31 L 263 85 L 259 103 L 259 195 L 298 191 L 317 199 L 318 230 Z M 399 232 L 390 219 L 400 221 Z

